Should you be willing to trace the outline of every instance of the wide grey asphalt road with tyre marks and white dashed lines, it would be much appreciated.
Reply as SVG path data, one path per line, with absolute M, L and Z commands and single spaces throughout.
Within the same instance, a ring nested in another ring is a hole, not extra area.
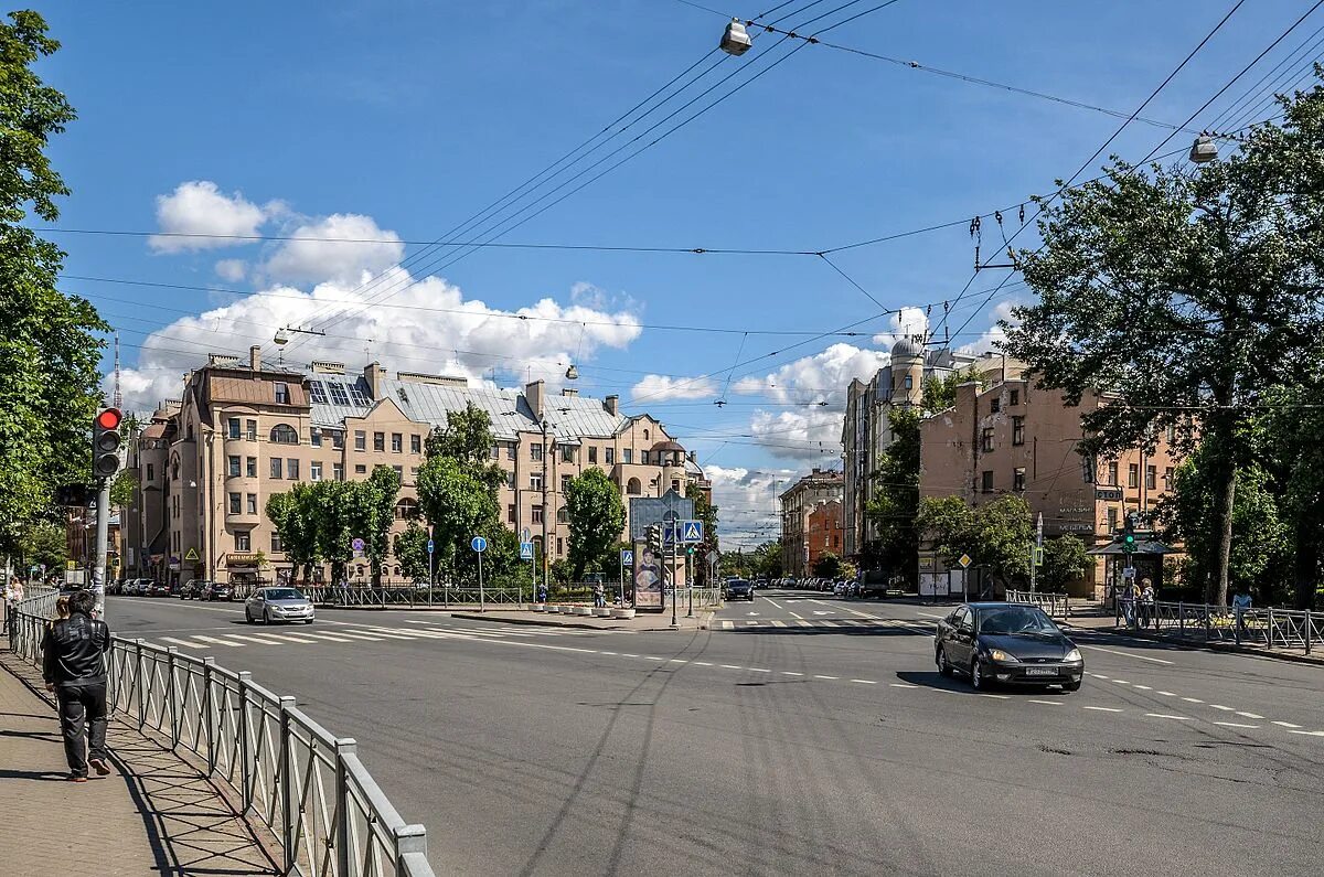
M 357 738 L 438 874 L 1286 876 L 1324 860 L 1319 668 L 1082 633 L 1079 693 L 981 696 L 933 668 L 947 609 L 808 592 L 653 633 L 107 608 L 115 632 L 252 670 Z

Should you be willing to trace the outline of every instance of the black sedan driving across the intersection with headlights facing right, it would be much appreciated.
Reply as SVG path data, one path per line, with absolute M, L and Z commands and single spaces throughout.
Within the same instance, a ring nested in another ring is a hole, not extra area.
M 933 660 L 943 676 L 970 685 L 1061 685 L 1080 689 L 1084 658 L 1043 609 L 1022 603 L 965 603 L 937 623 Z

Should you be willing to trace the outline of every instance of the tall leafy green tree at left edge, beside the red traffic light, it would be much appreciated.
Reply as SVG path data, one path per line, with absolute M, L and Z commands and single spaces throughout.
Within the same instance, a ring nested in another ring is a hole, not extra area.
M 101 403 L 98 364 L 109 326 L 85 299 L 56 287 L 64 253 L 23 225 L 54 223 L 69 195 L 46 158 L 74 119 L 65 97 L 33 72 L 60 44 L 30 11 L 0 23 L 0 521 L 37 519 L 53 491 L 90 476 L 87 429 Z M 0 538 L 9 542 L 17 530 Z

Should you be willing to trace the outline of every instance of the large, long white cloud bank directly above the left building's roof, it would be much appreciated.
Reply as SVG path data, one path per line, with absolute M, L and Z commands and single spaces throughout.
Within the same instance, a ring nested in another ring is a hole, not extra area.
M 282 354 L 295 367 L 331 359 L 359 371 L 371 358 L 392 371 L 448 374 L 475 383 L 495 374 L 506 384 L 523 384 L 531 376 L 552 386 L 564 383 L 572 358 L 585 360 L 600 348 L 628 347 L 642 331 L 638 317 L 628 311 L 565 306 L 553 298 L 502 310 L 466 298 L 441 278 L 410 285 L 412 280 L 393 269 L 371 290 L 356 289 L 354 281 L 324 282 L 307 291 L 273 285 L 177 319 L 150 335 L 138 366 L 124 371 L 126 405 L 150 409 L 162 399 L 177 399 L 180 375 L 205 364 L 209 351 L 246 362 L 248 347 L 261 344 L 265 360 L 274 363 L 271 338 L 282 326 L 327 333 L 293 336 Z M 384 290 L 399 291 L 387 301 L 369 302 Z M 327 322 L 330 315 L 336 315 L 335 322 Z M 520 315 L 526 319 L 512 318 Z

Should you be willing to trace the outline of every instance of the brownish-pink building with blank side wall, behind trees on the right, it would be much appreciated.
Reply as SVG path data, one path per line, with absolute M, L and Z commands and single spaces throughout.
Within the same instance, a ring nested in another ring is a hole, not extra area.
M 980 389 L 963 384 L 956 404 L 920 423 L 920 495 L 963 497 L 978 506 L 1005 493 L 1025 497 L 1043 515 L 1043 535 L 1075 534 L 1086 547 L 1107 544 L 1127 513 L 1152 511 L 1172 488 L 1178 460 L 1172 436 L 1156 437 L 1153 453 L 1129 450 L 1091 461 L 1078 453 L 1082 415 L 1107 404 L 1087 396 L 1066 407 L 1057 391 L 1014 378 Z M 1029 550 L 1029 546 L 1026 546 Z M 920 592 L 963 593 L 963 570 L 948 570 L 922 541 Z M 1103 593 L 1104 562 L 1071 587 L 1075 595 Z M 1148 571 L 1157 582 L 1157 571 Z M 970 591 L 978 592 L 977 571 Z

